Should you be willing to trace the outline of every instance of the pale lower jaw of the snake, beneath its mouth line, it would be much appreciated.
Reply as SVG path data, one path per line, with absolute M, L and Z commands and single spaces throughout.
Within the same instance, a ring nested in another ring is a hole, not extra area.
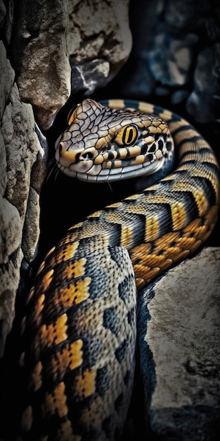
M 151 175 L 155 173 L 157 170 L 162 168 L 164 164 L 164 156 L 160 159 L 155 159 L 153 161 L 145 161 L 140 164 L 136 164 L 135 166 L 131 164 L 131 161 L 124 160 L 121 161 L 122 166 L 117 168 L 109 168 L 108 161 L 105 161 L 102 164 L 93 165 L 89 162 L 86 163 L 86 170 L 83 170 L 83 166 L 81 170 L 77 170 L 77 166 L 79 164 L 70 164 L 70 166 L 65 167 L 59 161 L 57 161 L 58 168 L 65 173 L 65 175 L 71 178 L 77 178 L 79 180 L 85 182 L 105 182 L 105 181 L 116 181 L 116 180 L 124 180 L 129 178 L 138 178 L 138 176 L 143 175 Z M 82 164 L 83 165 L 83 164 Z M 89 168 L 89 169 L 88 169 Z

